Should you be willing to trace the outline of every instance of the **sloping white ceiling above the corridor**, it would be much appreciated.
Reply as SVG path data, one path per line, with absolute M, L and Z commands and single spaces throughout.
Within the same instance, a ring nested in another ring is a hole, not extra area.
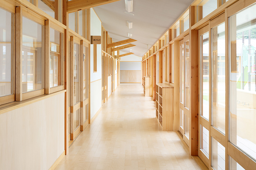
M 128 32 L 132 39 L 133 53 L 143 56 L 148 48 L 163 35 L 178 17 L 194 0 L 133 0 L 133 14 L 125 14 L 125 0 L 112 2 L 94 7 L 103 27 L 108 31 L 114 42 L 128 39 Z M 126 26 L 126 21 L 132 22 L 132 28 Z M 129 52 L 128 49 L 124 51 Z

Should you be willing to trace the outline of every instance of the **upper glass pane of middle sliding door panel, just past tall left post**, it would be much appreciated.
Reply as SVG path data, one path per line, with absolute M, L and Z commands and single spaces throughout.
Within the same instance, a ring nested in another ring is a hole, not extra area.
M 80 101 L 79 100 L 80 98 L 79 56 L 80 56 L 80 45 L 74 43 L 74 104 Z

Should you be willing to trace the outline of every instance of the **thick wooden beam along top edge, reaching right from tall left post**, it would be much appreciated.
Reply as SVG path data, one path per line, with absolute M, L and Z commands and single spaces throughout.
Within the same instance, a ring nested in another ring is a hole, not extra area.
M 116 1 L 120 0 L 72 0 L 67 2 L 67 12 L 76 12 L 79 10 L 97 7 L 99 5 L 104 5 Z

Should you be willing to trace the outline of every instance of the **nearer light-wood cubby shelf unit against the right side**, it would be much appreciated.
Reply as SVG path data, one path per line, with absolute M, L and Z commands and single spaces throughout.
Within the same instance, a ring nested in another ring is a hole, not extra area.
M 162 130 L 174 130 L 174 86 L 156 84 L 156 119 Z

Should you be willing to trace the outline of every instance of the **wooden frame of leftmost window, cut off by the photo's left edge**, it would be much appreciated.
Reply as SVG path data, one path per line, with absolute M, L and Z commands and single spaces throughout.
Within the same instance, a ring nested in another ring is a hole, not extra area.
M 7 104 L 7 103 L 10 103 L 10 102 L 13 102 L 15 101 L 15 53 L 16 53 L 16 31 L 15 31 L 15 22 L 16 22 L 16 17 L 15 17 L 15 13 L 16 13 L 16 7 L 9 4 L 8 2 L 6 1 L 3 1 L 1 2 L 0 4 L 0 7 L 5 10 L 5 11 L 8 11 L 10 13 L 12 13 L 12 54 L 11 54 L 11 57 L 12 57 L 12 63 L 11 63 L 11 71 L 12 71 L 12 77 L 11 77 L 11 85 L 12 85 L 12 94 L 10 95 L 5 95 L 5 96 L 2 96 L 0 97 L 0 105 L 2 104 Z

